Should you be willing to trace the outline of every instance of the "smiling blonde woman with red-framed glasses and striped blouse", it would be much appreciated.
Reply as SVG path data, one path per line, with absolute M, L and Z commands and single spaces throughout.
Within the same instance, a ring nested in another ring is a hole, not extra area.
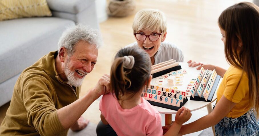
M 136 13 L 132 25 L 136 42 L 125 48 L 139 46 L 145 50 L 151 59 L 152 65 L 170 59 L 183 62 L 182 51 L 166 38 L 166 18 L 164 13 L 156 9 L 143 9 Z

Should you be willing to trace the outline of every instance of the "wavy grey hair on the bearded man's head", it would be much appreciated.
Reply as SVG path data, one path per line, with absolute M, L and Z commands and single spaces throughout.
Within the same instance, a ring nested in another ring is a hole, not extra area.
M 68 55 L 72 56 L 75 52 L 74 45 L 80 40 L 96 46 L 97 49 L 102 46 L 101 36 L 98 30 L 82 24 L 77 24 L 76 26 L 69 27 L 62 33 L 58 43 L 59 49 L 65 47 L 68 50 Z

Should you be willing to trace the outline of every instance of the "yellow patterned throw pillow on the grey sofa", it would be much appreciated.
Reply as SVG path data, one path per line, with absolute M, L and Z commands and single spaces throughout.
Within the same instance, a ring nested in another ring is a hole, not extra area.
M 0 0 L 0 20 L 51 15 L 46 0 Z

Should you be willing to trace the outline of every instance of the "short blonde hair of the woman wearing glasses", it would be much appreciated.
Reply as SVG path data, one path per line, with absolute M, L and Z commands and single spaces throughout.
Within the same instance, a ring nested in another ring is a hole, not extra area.
M 134 33 L 140 30 L 160 30 L 163 36 L 167 29 L 166 17 L 157 9 L 142 9 L 136 13 L 132 28 Z

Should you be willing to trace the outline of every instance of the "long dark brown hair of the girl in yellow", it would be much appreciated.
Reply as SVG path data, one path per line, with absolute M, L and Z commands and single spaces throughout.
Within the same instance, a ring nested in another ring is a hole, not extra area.
M 226 60 L 248 75 L 249 102 L 258 118 L 259 7 L 250 2 L 235 4 L 221 13 L 218 24 L 226 31 Z M 238 41 L 242 42 L 241 47 L 238 46 Z

